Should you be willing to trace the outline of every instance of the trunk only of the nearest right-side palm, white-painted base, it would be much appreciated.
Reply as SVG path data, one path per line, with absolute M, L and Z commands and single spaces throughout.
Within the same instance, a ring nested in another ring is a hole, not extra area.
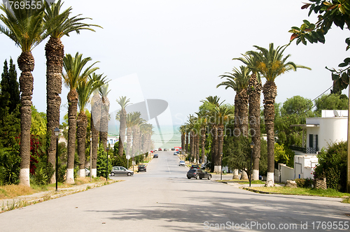
M 265 83 L 262 93 L 264 94 L 264 117 L 267 133 L 267 181 L 265 186 L 274 186 L 274 102 L 277 95 L 277 87 L 273 81 Z

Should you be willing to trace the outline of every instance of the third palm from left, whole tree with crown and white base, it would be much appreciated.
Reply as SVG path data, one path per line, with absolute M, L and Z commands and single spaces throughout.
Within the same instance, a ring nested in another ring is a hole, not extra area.
M 66 73 L 63 75 L 64 84 L 69 87 L 68 99 L 68 145 L 67 145 L 67 171 L 66 182 L 74 183 L 74 156 L 76 153 L 76 114 L 78 104 L 78 92 L 76 88 L 78 83 L 86 81 L 87 76 L 96 71 L 98 68 L 94 66 L 97 62 L 90 65 L 83 71 L 85 64 L 92 59 L 90 57 L 82 59 L 83 55 L 76 52 L 76 56 L 72 57 L 67 54 L 63 59 L 63 67 Z M 82 73 L 83 71 L 83 73 Z

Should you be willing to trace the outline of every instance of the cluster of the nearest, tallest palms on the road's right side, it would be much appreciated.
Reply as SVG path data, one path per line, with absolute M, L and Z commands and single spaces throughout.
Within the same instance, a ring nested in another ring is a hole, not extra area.
M 243 57 L 234 58 L 242 61 L 245 66 L 240 66 L 240 71 L 234 68 L 234 73 L 221 75 L 227 81 L 221 82 L 217 87 L 224 85 L 226 89 L 232 87 L 235 90 L 235 124 L 239 132 L 244 136 L 251 136 L 253 147 L 253 180 L 259 177 L 260 159 L 260 93 L 264 94 L 264 119 L 267 133 L 267 183 L 274 185 L 274 103 L 277 95 L 276 78 L 288 71 L 296 71 L 297 68 L 307 68 L 292 61 L 287 61 L 290 55 L 283 56 L 288 45 L 274 49 L 274 44 L 269 44 L 269 49 L 254 46 L 257 51 L 248 51 Z M 266 78 L 262 87 L 261 78 Z M 249 103 L 248 117 L 247 107 Z M 236 111 L 237 108 L 237 111 Z M 236 113 L 237 112 L 237 113 Z M 249 119 L 249 120 L 248 120 Z M 250 130 L 248 130 L 249 121 Z M 236 128 L 236 126 L 235 126 Z

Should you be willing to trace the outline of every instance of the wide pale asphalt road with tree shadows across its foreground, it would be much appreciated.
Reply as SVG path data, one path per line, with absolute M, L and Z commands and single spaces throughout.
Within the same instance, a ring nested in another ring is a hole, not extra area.
M 123 182 L 3 212 L 0 231 L 350 230 L 350 205 L 339 198 L 255 194 L 188 180 L 173 153 L 158 152 L 146 173 L 111 177 Z

